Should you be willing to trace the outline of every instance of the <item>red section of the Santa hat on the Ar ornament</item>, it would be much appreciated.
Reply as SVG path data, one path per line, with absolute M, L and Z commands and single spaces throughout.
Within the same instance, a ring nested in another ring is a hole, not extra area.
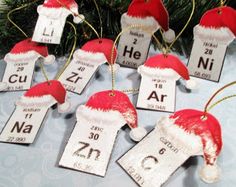
M 180 59 L 174 55 L 168 54 L 167 56 L 163 54 L 158 54 L 147 59 L 144 66 L 150 68 L 171 68 L 177 72 L 185 80 L 189 80 L 189 72 L 185 64 L 180 61 Z

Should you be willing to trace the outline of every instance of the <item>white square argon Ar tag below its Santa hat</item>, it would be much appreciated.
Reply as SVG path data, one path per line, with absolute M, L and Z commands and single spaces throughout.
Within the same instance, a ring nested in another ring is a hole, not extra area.
M 175 111 L 176 81 L 142 76 L 137 108 Z

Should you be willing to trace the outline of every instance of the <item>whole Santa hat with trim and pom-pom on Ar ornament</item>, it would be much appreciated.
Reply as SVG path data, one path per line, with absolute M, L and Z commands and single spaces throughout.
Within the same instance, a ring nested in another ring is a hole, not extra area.
M 190 80 L 189 72 L 185 64 L 174 55 L 158 54 L 147 59 L 144 65 L 139 66 L 138 72 L 151 77 L 167 77 L 178 80 L 180 77 L 186 80 L 186 87 L 196 88 L 196 82 Z

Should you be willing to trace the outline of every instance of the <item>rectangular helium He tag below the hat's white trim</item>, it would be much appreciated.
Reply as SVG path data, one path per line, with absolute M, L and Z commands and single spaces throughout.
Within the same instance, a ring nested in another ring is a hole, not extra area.
M 148 55 L 151 35 L 140 29 L 131 29 L 120 37 L 117 62 L 123 66 L 138 68 Z

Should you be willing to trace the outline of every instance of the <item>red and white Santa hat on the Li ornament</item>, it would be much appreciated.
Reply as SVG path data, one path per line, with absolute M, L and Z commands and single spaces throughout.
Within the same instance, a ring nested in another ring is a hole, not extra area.
M 38 6 L 37 11 L 40 15 L 54 19 L 73 14 L 75 23 L 80 23 L 84 19 L 83 15 L 79 15 L 78 4 L 74 0 L 45 0 L 43 5 Z

